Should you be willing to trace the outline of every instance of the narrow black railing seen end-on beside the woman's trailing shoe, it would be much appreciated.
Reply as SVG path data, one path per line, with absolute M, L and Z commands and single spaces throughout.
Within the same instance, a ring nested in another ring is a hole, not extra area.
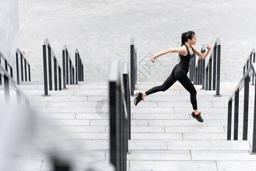
M 131 39 L 131 95 L 134 96 L 135 84 L 137 83 L 137 50 L 134 39 Z

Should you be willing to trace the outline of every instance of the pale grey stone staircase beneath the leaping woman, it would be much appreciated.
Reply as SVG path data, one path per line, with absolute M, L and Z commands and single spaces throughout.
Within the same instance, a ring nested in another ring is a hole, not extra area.
M 136 92 L 161 84 L 144 82 L 137 86 Z M 235 86 L 221 83 L 221 97 L 195 86 L 204 123 L 190 116 L 189 93 L 178 82 L 165 92 L 145 97 L 136 107 L 132 96 L 132 140 L 129 140 L 131 154 L 127 154 L 127 170 L 256 170 L 256 156 L 249 152 L 254 86 L 250 87 L 249 140 L 242 141 L 242 91 L 239 140 L 226 140 L 227 99 Z M 51 96 L 42 96 L 42 85 L 21 87 L 35 111 L 67 132 L 80 147 L 92 150 L 97 161 L 109 162 L 108 82 L 67 85 L 68 89 L 50 91 Z M 27 146 L 21 150 L 17 170 L 46 171 L 52 170 L 52 165 L 46 156 Z

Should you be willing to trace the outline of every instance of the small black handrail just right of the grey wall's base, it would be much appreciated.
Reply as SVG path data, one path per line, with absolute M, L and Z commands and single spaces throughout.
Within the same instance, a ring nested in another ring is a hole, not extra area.
M 19 55 L 20 55 L 20 58 L 19 58 Z M 24 64 L 23 64 L 23 61 L 24 61 Z M 30 64 L 29 62 L 27 62 L 27 59 L 22 54 L 21 50 L 19 50 L 19 48 L 16 51 L 16 69 L 17 69 L 17 84 L 19 84 L 19 74 L 21 74 L 22 82 L 24 82 L 24 75 L 25 75 L 25 82 L 27 82 L 27 77 L 29 77 L 29 82 L 31 81 Z

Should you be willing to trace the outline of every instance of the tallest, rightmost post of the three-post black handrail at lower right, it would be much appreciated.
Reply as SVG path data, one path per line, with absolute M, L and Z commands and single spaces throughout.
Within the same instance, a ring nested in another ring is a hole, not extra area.
M 243 99 L 243 140 L 247 140 L 248 129 L 248 109 L 249 109 L 249 82 L 250 78 L 245 78 L 245 95 Z

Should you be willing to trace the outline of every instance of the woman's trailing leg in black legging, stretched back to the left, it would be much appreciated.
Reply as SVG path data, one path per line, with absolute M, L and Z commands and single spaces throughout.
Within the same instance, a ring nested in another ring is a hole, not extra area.
M 148 96 L 155 92 L 166 91 L 166 89 L 170 88 L 170 86 L 172 86 L 177 81 L 177 79 L 174 76 L 175 70 L 176 70 L 176 67 L 173 68 L 172 73 L 161 86 L 156 86 L 149 89 L 148 91 L 145 92 L 145 94 L 143 93 L 143 97 Z

